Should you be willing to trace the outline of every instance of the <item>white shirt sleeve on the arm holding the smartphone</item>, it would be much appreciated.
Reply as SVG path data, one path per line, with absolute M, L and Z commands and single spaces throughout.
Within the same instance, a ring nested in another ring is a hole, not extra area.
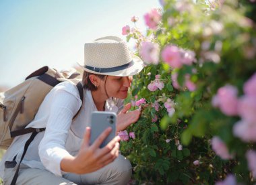
M 40 160 L 46 170 L 62 176 L 61 160 L 70 156 L 65 149 L 67 135 L 73 116 L 82 105 L 79 92 L 74 84 L 63 82 L 51 90 L 51 109 L 46 123 L 44 137 L 38 146 Z

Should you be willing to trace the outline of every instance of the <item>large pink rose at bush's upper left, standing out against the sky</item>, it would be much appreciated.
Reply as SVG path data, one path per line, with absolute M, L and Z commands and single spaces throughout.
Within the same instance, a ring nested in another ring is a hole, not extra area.
M 156 29 L 158 27 L 158 23 L 162 19 L 162 15 L 158 12 L 157 9 L 152 9 L 149 13 L 144 15 L 144 19 L 148 27 L 151 29 Z

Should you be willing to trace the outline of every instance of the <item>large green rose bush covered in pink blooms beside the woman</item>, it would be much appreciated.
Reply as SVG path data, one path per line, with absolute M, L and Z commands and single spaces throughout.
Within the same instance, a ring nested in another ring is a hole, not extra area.
M 253 184 L 255 1 L 160 3 L 146 34 L 123 31 L 145 61 L 129 99 L 143 113 L 121 141 L 131 184 Z

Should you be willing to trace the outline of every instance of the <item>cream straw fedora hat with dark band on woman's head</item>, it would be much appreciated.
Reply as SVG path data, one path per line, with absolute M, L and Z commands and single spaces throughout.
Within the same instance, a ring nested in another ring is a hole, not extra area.
M 131 76 L 142 70 L 143 61 L 121 38 L 106 36 L 84 44 L 84 65 L 79 66 L 94 74 Z

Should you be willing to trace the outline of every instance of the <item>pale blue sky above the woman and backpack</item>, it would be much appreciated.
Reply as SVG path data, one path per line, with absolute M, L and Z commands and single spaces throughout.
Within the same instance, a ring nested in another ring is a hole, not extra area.
M 0 86 L 15 86 L 48 65 L 58 70 L 84 62 L 84 43 L 121 35 L 124 25 L 146 29 L 143 15 L 158 0 L 1 0 Z M 132 48 L 132 44 L 129 45 Z

